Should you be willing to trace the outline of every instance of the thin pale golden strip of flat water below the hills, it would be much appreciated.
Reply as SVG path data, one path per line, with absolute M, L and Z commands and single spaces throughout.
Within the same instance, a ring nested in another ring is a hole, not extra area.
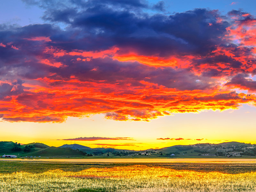
M 99 163 L 255 163 L 255 159 L 221 159 L 221 158 L 193 158 L 193 159 L 179 159 L 179 158 L 145 158 L 145 159 L 6 159 L 0 160 L 8 161 L 50 161 L 50 162 L 99 162 Z

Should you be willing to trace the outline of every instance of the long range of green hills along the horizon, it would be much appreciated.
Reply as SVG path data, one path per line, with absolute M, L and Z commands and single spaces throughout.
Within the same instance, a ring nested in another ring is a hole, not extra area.
M 90 148 L 79 144 L 65 144 L 60 147 L 50 147 L 43 143 L 28 143 L 20 145 L 12 141 L 0 141 L 0 155 L 42 156 L 42 157 L 132 157 L 132 158 L 200 158 L 200 157 L 255 157 L 256 145 L 236 141 L 220 144 L 199 143 L 194 145 L 175 145 L 160 149 L 141 151 Z

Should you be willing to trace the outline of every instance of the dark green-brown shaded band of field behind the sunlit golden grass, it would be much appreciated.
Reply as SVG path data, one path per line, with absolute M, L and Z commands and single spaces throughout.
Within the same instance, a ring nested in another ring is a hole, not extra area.
M 198 172 L 245 173 L 256 172 L 256 165 L 249 163 L 72 163 L 72 162 L 19 162 L 0 161 L 0 173 L 31 172 L 42 173 L 49 170 L 82 171 L 89 168 L 110 168 L 116 166 L 147 165 L 160 166 L 175 170 Z M 87 189 L 84 189 L 87 190 Z

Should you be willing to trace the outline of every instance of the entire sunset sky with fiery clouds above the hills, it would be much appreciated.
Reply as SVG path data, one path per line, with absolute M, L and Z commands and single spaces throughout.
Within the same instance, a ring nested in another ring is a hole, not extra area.
M 255 0 L 3 0 L 0 140 L 256 143 Z

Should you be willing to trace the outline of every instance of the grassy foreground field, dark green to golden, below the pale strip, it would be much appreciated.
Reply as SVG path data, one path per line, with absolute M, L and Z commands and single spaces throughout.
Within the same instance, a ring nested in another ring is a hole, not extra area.
M 209 165 L 202 170 L 195 171 L 196 164 L 188 164 L 190 167 L 188 170 L 178 170 L 186 167 L 186 164 L 181 166 L 176 164 L 172 168 L 168 164 L 27 164 L 22 162 L 0 162 L 0 165 L 0 191 L 3 192 L 256 191 L 256 172 L 248 172 L 247 170 L 244 173 L 225 173 L 229 169 L 228 167 L 221 168 L 224 165 L 220 165 L 220 170 L 226 170 L 224 172 L 212 172 L 211 168 L 205 168 L 210 167 Z M 16 172 L 5 170 L 12 166 L 25 168 Z M 230 170 L 234 170 L 232 169 L 234 165 L 230 166 Z M 52 169 L 54 167 L 57 169 Z M 240 169 L 254 168 L 254 166 L 246 167 L 242 165 Z

